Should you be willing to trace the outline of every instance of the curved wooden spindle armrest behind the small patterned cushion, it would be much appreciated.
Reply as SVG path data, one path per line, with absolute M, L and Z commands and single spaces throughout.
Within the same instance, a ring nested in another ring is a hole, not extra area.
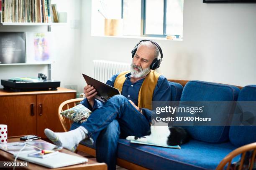
M 76 106 L 77 103 L 81 102 L 82 100 L 84 100 L 84 98 L 70 99 L 62 102 L 59 105 L 59 109 L 58 109 L 59 120 L 61 121 L 61 125 L 65 132 L 69 131 L 72 121 L 62 116 L 60 113 L 63 112 L 64 110 L 67 110 L 69 108 Z

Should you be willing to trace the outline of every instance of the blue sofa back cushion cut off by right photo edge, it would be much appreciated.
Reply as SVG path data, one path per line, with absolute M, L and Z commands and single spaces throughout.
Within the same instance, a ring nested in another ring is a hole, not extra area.
M 243 87 L 239 93 L 238 101 L 256 101 L 256 85 Z M 255 107 L 247 109 L 255 110 Z M 238 112 L 238 110 L 235 110 L 235 112 Z M 231 126 L 229 140 L 237 147 L 256 142 L 256 126 Z

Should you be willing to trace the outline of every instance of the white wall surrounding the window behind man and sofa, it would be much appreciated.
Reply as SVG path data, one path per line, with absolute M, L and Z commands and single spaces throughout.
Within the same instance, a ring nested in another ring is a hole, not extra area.
M 207 4 L 184 0 L 183 41 L 156 40 L 170 79 L 233 85 L 256 84 L 256 3 Z M 131 62 L 140 39 L 91 36 L 91 0 L 82 1 L 82 69 L 93 75 L 92 60 Z M 80 77 L 79 88 L 84 86 Z

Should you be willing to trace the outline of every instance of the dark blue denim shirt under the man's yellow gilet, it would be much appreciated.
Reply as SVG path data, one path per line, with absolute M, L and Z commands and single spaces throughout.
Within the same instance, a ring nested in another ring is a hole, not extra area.
M 115 79 L 119 74 L 120 73 L 113 75 L 106 82 L 106 84 L 114 87 Z M 125 96 L 128 100 L 132 100 L 134 104 L 138 106 L 138 93 L 145 78 L 132 83 L 131 73 L 126 74 L 125 77 L 126 80 L 123 83 L 121 95 Z M 171 85 L 168 83 L 168 80 L 163 75 L 160 75 L 154 89 L 153 101 L 170 101 L 172 96 L 171 94 Z M 81 101 L 81 104 L 90 109 L 91 111 L 94 111 L 95 109 L 101 107 L 103 105 L 103 102 L 94 99 L 94 105 L 93 107 L 91 107 L 87 99 L 84 99 Z M 152 111 L 142 108 L 142 112 L 146 116 L 146 119 L 150 122 Z

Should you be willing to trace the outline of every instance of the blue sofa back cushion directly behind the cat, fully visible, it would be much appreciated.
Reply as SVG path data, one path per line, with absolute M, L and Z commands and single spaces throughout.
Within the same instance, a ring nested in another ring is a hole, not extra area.
M 189 81 L 185 85 L 181 101 L 233 101 L 237 100 L 239 88 L 212 82 Z M 231 107 L 231 103 L 230 103 Z M 218 108 L 216 106 L 216 108 Z M 218 114 L 228 114 L 230 108 L 218 110 Z M 215 114 L 216 110 L 212 111 Z M 228 140 L 229 126 L 186 126 L 192 138 L 210 143 L 222 143 Z

